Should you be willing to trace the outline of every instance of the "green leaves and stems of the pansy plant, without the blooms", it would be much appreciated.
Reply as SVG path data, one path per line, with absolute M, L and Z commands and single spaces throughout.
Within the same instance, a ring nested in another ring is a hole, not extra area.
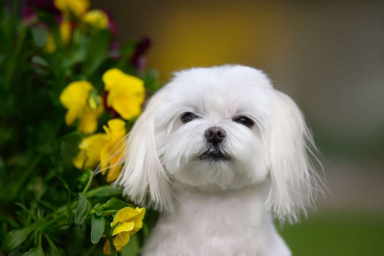
M 78 123 L 65 125 L 60 94 L 68 83 L 85 79 L 95 88 L 91 102 L 101 104 L 102 75 L 113 67 L 144 80 L 149 95 L 161 83 L 155 71 L 131 64 L 137 42 L 113 49 L 109 29 L 71 16 L 66 44 L 56 14 L 33 9 L 36 15 L 23 21 L 0 0 L 0 255 L 101 255 L 107 240 L 116 255 L 110 223 L 118 210 L 133 205 L 101 174 L 73 167 L 85 135 Z M 106 110 L 97 132 L 115 115 Z M 133 123 L 127 122 L 128 130 Z M 156 212 L 147 214 L 154 217 L 145 217 L 145 228 L 132 237 L 130 255 L 139 253 L 156 220 Z

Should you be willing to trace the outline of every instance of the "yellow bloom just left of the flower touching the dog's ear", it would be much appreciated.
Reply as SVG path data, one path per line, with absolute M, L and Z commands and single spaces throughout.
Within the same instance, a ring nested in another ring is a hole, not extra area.
M 105 143 L 106 135 L 96 133 L 84 138 L 80 145 L 80 152 L 72 163 L 77 169 L 95 168 L 100 163 L 100 150 Z

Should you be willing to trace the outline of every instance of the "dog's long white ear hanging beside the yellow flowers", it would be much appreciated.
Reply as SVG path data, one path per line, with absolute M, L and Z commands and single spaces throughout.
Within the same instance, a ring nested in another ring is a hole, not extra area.
M 148 102 L 127 138 L 124 167 L 116 184 L 135 203 L 160 211 L 172 211 L 172 192 L 155 144 L 156 113 L 162 104 L 159 93 Z

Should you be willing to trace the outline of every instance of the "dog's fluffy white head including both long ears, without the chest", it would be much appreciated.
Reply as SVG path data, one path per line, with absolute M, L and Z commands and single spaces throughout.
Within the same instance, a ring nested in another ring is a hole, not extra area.
M 177 72 L 127 141 L 117 184 L 171 210 L 172 183 L 219 190 L 264 184 L 266 206 L 296 218 L 312 200 L 311 133 L 296 104 L 261 71 L 241 65 Z

